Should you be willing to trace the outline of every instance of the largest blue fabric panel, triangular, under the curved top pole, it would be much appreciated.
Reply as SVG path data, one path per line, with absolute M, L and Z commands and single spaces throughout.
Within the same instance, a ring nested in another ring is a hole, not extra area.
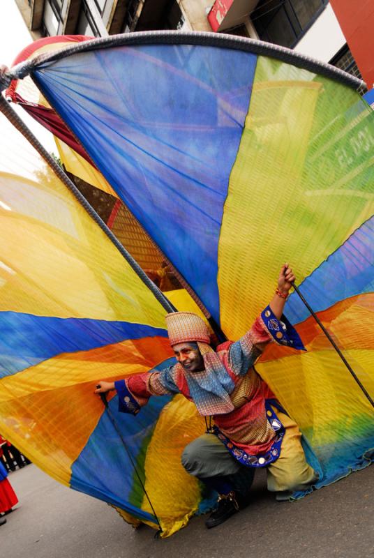
M 138 45 L 74 54 L 33 71 L 217 322 L 220 224 L 256 61 L 225 48 Z

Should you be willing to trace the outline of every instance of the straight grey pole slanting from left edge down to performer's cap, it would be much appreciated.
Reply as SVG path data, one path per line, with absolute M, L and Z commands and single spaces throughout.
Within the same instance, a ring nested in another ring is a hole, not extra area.
M 56 163 L 54 158 L 50 156 L 50 153 L 46 149 L 44 149 L 43 145 L 36 139 L 33 135 L 31 130 L 27 128 L 26 124 L 20 119 L 20 116 L 10 107 L 9 103 L 3 98 L 0 93 L 0 111 L 3 113 L 4 116 L 10 121 L 10 123 L 17 128 L 17 130 L 26 137 L 26 139 L 31 143 L 31 145 L 38 151 L 39 155 L 43 157 L 45 162 L 50 165 L 52 170 L 55 174 L 59 177 L 59 179 L 65 184 L 65 186 L 70 190 L 70 192 L 75 196 L 78 202 L 84 207 L 84 209 L 89 213 L 91 218 L 97 223 L 100 229 L 105 232 L 107 237 L 112 241 L 114 246 L 119 250 L 121 255 L 126 259 L 126 262 L 130 265 L 130 267 L 135 271 L 137 276 L 144 282 L 149 290 L 154 294 L 158 302 L 163 306 L 163 308 L 167 312 L 175 312 L 176 308 L 174 305 L 166 298 L 163 292 L 158 289 L 158 287 L 154 284 L 153 281 L 149 279 L 146 273 L 142 270 L 140 265 L 135 261 L 135 259 L 128 253 L 126 248 L 122 246 L 122 244 L 117 239 L 117 236 L 114 236 L 112 231 L 109 227 L 104 223 L 103 219 L 100 218 L 98 213 L 93 209 L 93 207 L 87 202 L 87 199 L 80 193 L 80 190 L 75 186 L 75 184 L 69 179 L 63 169 Z

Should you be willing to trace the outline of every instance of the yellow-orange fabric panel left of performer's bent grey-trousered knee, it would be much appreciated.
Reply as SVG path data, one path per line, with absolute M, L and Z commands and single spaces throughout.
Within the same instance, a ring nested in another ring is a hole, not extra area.
M 163 537 L 187 525 L 199 506 L 199 484 L 182 467 L 181 453 L 204 430 L 203 418 L 198 416 L 195 405 L 183 395 L 174 397 L 158 418 L 147 448 L 144 469 L 145 489 L 163 527 Z M 163 461 L 167 462 L 167 470 L 172 474 L 165 474 L 165 469 L 160 467 Z M 152 513 L 146 497 L 142 509 Z M 176 521 L 175 518 L 181 519 Z

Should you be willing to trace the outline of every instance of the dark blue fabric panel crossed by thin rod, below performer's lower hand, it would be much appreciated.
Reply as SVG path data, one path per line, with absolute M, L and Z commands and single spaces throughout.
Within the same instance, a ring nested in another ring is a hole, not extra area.
M 170 395 L 153 397 L 137 416 L 118 412 L 117 395 L 109 402 L 110 411 L 141 478 L 144 470 L 136 464 L 138 460 L 144 462 L 142 454 L 147 453 L 144 441 L 147 442 L 151 437 L 160 412 L 171 399 Z M 152 515 L 138 507 L 144 494 L 142 486 L 107 412 L 103 412 L 89 441 L 74 462 L 70 486 L 119 506 L 138 518 L 154 520 Z

